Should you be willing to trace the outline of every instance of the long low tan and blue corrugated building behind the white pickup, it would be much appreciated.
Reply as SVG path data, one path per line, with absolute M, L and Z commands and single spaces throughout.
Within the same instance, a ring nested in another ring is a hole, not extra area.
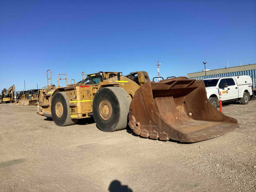
M 202 80 L 205 78 L 230 77 L 236 75 L 250 75 L 252 77 L 253 89 L 256 89 L 256 63 L 237 67 L 208 70 L 206 71 L 206 76 L 205 71 L 189 73 L 188 78 Z

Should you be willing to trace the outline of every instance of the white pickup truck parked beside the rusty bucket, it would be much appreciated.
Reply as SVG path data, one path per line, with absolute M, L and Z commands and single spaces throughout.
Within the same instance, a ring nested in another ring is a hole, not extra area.
M 221 92 L 222 101 L 240 100 L 247 104 L 252 95 L 252 78 L 249 75 L 234 77 L 217 77 L 204 79 L 207 98 L 214 107 L 219 106 Z

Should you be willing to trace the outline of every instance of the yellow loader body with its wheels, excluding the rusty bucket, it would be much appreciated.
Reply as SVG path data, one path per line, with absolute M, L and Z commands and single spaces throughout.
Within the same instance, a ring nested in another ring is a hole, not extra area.
M 39 115 L 52 117 L 59 126 L 93 116 L 99 129 L 106 132 L 125 129 L 135 91 L 150 82 L 145 71 L 127 76 L 119 72 L 99 72 L 87 77 L 83 72 L 82 81 L 74 84 L 67 84 L 67 75 L 59 74 L 58 86 L 49 84 L 49 80 L 50 70 L 47 71 L 47 86 L 39 91 Z M 66 86 L 60 86 L 60 80 L 65 80 Z

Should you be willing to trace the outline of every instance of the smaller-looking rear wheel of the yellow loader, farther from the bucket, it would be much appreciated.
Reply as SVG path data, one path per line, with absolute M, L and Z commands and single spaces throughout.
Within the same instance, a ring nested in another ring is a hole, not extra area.
M 58 126 L 74 125 L 78 119 L 71 119 L 69 99 L 65 92 L 58 92 L 53 95 L 51 113 L 54 123 Z

